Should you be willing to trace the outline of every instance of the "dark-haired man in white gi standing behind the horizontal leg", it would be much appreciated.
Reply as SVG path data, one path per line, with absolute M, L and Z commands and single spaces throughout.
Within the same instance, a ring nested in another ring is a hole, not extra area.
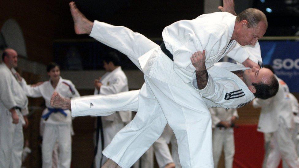
M 103 75 L 103 77 L 101 77 L 100 80 L 95 80 L 94 94 L 109 95 L 123 91 L 129 91 L 127 76 L 121 69 L 121 66 L 119 66 L 120 60 L 118 55 L 113 52 L 109 53 L 104 57 L 103 63 L 106 73 Z M 132 112 L 116 111 L 116 113 L 108 116 L 102 116 L 101 118 L 97 119 L 102 120 L 102 131 L 104 136 L 100 137 L 99 130 L 99 139 L 97 140 L 97 154 L 95 156 L 95 167 L 100 167 L 107 161 L 107 158 L 105 156 L 102 156 L 102 150 L 106 146 L 108 146 L 108 144 L 110 144 L 115 134 L 131 121 Z M 104 146 L 102 146 L 102 138 L 104 140 Z

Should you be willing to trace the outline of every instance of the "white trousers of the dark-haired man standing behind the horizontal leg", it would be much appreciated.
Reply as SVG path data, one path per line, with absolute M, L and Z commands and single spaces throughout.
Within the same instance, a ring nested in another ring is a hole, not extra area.
M 125 123 L 122 121 L 122 119 L 120 118 L 120 116 L 119 115 L 115 115 L 115 116 L 118 116 L 118 118 L 115 117 L 114 121 L 108 121 L 108 120 L 104 120 L 102 118 L 103 136 L 104 136 L 104 148 L 107 147 L 111 143 L 111 141 L 112 141 L 113 137 L 115 136 L 115 134 L 118 133 L 125 126 Z M 100 142 L 100 140 L 99 140 L 99 142 Z M 101 154 L 101 152 L 102 151 L 100 151 L 99 154 Z M 103 166 L 104 163 L 108 159 L 105 156 L 102 156 L 102 157 L 103 158 L 102 158 L 101 166 Z

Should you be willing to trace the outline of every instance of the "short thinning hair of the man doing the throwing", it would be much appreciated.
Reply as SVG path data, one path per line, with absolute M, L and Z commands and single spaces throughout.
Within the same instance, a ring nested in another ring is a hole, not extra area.
M 247 28 L 255 27 L 260 21 L 262 21 L 266 28 L 268 28 L 268 21 L 265 13 L 259 9 L 249 8 L 237 15 L 236 21 L 240 23 L 241 21 L 246 20 Z

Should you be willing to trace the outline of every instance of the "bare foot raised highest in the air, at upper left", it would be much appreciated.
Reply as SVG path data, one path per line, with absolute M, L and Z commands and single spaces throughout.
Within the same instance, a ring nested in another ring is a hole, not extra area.
M 75 2 L 70 2 L 70 13 L 74 20 L 76 34 L 90 34 L 93 22 L 89 21 L 77 8 Z

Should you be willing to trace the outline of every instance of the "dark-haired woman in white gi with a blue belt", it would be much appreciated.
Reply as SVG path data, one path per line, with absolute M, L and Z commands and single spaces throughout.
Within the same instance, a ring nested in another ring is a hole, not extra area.
M 43 84 L 31 87 L 24 79 L 21 86 L 29 97 L 43 97 L 46 109 L 43 111 L 44 134 L 42 142 L 43 167 L 52 168 L 52 152 L 55 142 L 59 144 L 59 166 L 70 167 L 71 162 L 71 125 L 72 117 L 69 109 L 55 109 L 50 105 L 51 95 L 56 91 L 65 98 L 80 96 L 74 84 L 70 80 L 60 77 L 59 66 L 50 63 L 47 66 L 47 74 L 50 80 Z

